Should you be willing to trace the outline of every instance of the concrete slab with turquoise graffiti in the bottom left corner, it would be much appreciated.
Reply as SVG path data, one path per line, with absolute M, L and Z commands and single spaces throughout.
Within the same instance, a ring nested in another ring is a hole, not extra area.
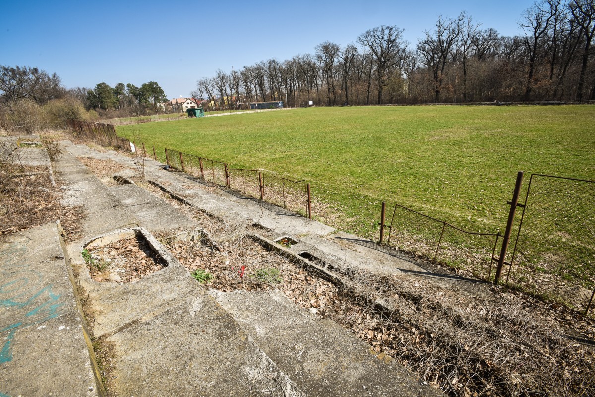
M 0 396 L 102 396 L 55 224 L 0 240 Z

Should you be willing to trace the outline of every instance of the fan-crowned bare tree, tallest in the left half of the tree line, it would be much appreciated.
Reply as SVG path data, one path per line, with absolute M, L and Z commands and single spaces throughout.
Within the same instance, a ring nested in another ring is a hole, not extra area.
M 369 48 L 376 61 L 378 104 L 382 104 L 382 91 L 386 85 L 387 71 L 402 61 L 406 43 L 403 29 L 381 25 L 358 36 L 358 43 Z

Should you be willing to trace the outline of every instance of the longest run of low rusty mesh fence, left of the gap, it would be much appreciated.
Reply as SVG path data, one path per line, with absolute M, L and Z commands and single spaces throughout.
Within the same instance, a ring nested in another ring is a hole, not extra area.
M 153 149 L 153 155 L 156 160 L 155 149 Z M 293 180 L 261 169 L 232 168 L 223 161 L 167 148 L 165 148 L 165 162 L 171 168 L 199 177 L 214 185 L 226 186 L 312 218 L 310 184 L 305 179 Z

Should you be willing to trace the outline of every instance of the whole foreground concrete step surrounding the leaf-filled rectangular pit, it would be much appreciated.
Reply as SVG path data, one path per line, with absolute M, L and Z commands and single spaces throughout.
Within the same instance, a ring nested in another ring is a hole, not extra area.
M 239 324 L 148 232 L 98 236 L 101 246 L 140 231 L 167 267 L 134 283 L 96 282 L 69 245 L 88 296 L 93 334 L 113 349 L 109 389 L 120 396 L 300 396 Z

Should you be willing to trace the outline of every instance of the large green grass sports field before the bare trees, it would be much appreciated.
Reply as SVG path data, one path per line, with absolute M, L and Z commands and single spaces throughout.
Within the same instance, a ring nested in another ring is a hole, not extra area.
M 339 214 L 323 220 L 362 236 L 382 201 L 503 232 L 516 171 L 595 179 L 595 105 L 302 108 L 117 127 L 134 129 L 162 159 L 167 147 L 308 179 Z

